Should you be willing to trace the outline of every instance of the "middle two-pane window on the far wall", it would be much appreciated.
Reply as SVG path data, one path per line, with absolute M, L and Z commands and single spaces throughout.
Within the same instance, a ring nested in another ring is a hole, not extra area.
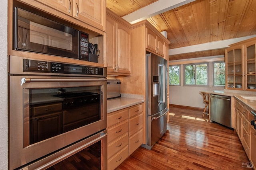
M 185 85 L 208 85 L 208 64 L 187 64 L 184 66 Z

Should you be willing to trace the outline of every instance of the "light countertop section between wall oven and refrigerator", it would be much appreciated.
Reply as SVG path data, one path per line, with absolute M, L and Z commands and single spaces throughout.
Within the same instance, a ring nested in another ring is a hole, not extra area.
M 122 96 L 122 94 L 121 94 Z M 108 100 L 108 113 L 145 102 L 144 98 L 121 97 Z

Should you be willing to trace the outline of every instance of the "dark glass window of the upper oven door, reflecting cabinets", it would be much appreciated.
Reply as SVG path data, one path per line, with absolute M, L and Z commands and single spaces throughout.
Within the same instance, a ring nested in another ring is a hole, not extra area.
M 28 91 L 30 145 L 100 120 L 100 86 Z

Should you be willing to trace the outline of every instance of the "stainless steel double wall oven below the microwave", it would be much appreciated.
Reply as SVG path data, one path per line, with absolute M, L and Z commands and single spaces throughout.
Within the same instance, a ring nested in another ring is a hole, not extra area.
M 105 67 L 10 56 L 9 169 L 106 169 L 106 87 Z

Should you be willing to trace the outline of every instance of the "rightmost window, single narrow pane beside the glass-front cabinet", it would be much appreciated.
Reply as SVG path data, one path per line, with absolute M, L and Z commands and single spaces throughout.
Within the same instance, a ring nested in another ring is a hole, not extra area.
M 225 63 L 213 63 L 213 86 L 225 86 Z

